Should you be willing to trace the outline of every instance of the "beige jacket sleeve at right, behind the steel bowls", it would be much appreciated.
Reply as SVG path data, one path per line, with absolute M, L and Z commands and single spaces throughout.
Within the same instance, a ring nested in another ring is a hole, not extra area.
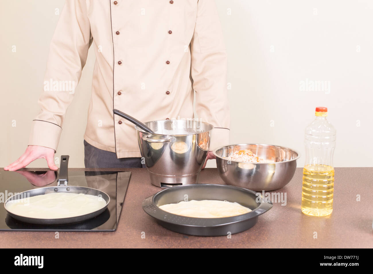
M 199 0 L 191 40 L 191 76 L 199 119 L 212 124 L 210 150 L 229 144 L 227 54 L 214 0 Z

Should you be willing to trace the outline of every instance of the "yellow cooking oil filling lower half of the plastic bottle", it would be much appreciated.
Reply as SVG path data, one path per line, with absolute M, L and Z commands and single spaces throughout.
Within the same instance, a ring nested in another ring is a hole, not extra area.
M 302 212 L 327 216 L 333 211 L 334 168 L 309 164 L 303 169 Z

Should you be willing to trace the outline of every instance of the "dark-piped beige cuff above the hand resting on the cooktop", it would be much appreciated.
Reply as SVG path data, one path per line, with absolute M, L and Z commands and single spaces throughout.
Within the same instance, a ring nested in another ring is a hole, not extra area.
M 56 153 L 62 128 L 54 123 L 33 120 L 28 145 L 39 145 L 54 149 Z

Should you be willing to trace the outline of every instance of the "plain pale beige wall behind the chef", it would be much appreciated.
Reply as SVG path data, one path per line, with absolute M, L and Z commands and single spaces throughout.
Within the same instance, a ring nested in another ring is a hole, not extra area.
M 373 166 L 373 2 L 216 2 L 229 58 L 231 143 L 283 145 L 304 154 L 304 128 L 320 105 L 329 108 L 328 119 L 337 129 L 335 166 Z M 63 3 L 0 2 L 1 167 L 26 148 L 59 17 L 55 9 Z M 94 58 L 90 50 L 56 154 L 69 154 L 70 167 L 84 167 Z M 306 79 L 327 81 L 330 90 L 301 91 Z M 303 163 L 302 157 L 298 166 Z M 29 167 L 46 163 L 37 160 Z

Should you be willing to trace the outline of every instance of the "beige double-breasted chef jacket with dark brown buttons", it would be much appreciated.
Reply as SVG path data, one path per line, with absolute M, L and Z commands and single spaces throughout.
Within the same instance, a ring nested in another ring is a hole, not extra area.
M 227 57 L 214 0 L 66 0 L 54 32 L 29 145 L 57 149 L 66 110 L 93 45 L 84 139 L 118 158 L 140 157 L 134 125 L 211 123 L 210 150 L 229 144 Z

